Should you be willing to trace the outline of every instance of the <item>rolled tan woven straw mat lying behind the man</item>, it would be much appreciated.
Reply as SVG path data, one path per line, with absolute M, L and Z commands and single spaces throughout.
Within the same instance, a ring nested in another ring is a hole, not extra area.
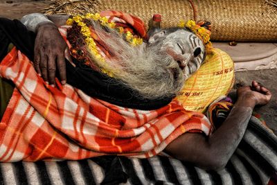
M 162 26 L 177 26 L 180 20 L 193 19 L 189 1 L 177 0 L 51 0 L 48 15 L 76 15 L 102 10 L 120 10 L 147 23 L 154 14 L 162 15 Z M 212 40 L 238 42 L 277 41 L 276 0 L 193 1 L 196 19 L 211 21 Z

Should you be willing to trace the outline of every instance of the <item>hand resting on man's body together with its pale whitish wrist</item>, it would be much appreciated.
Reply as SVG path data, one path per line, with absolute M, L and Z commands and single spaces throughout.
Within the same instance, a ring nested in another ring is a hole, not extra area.
M 33 13 L 22 17 L 21 22 L 37 33 L 34 49 L 34 67 L 42 78 L 55 85 L 56 70 L 60 73 L 62 84 L 66 83 L 65 60 L 71 61 L 69 49 L 60 35 L 57 26 L 66 24 L 67 15 L 42 15 Z

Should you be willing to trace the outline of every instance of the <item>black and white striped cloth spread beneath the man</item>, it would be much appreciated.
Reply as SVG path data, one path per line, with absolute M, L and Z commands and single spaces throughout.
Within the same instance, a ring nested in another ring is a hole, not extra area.
M 2 163 L 0 167 L 1 184 L 267 184 L 277 171 L 277 137 L 252 117 L 238 150 L 220 171 L 159 156 Z

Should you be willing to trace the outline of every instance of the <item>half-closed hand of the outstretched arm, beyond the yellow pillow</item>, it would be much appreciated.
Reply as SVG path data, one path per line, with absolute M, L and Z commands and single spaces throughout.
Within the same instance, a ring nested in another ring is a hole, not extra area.
M 267 105 L 271 99 L 271 92 L 260 83 L 253 81 L 250 87 L 246 86 L 238 89 L 238 97 L 249 98 L 255 105 Z

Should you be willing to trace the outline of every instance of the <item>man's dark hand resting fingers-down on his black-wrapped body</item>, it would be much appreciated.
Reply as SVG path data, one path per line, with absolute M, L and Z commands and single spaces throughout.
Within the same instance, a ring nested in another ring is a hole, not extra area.
M 35 70 L 42 78 L 55 85 L 56 70 L 60 73 L 62 85 L 66 83 L 65 58 L 70 58 L 66 42 L 55 24 L 44 23 L 37 27 L 35 38 Z

